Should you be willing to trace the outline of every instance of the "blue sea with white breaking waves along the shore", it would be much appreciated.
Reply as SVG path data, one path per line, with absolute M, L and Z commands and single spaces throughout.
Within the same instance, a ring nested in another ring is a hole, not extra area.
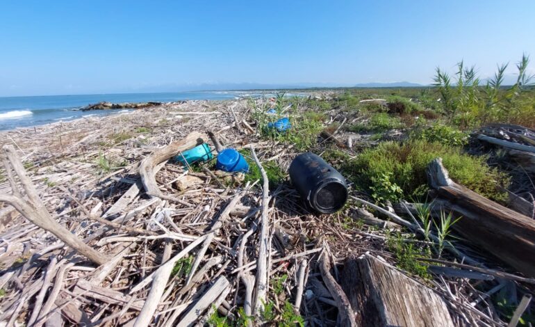
M 80 111 L 98 102 L 174 102 L 179 100 L 224 100 L 241 97 L 272 97 L 274 90 L 265 91 L 198 91 L 176 93 L 124 93 L 92 95 L 44 95 L 32 97 L 0 97 L 0 130 L 32 127 L 81 117 L 113 115 L 129 110 Z M 286 93 L 286 96 L 302 95 Z

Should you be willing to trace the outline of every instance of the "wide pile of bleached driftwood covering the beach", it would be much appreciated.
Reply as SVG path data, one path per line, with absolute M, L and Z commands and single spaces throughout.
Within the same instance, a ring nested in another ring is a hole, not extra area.
M 508 289 L 526 294 L 514 326 L 535 280 L 529 263 L 508 259 L 512 244 L 497 255 L 527 277 L 452 245 L 451 261 L 427 262 L 432 280 L 407 276 L 385 243 L 401 227 L 422 231 L 411 204 L 394 212 L 353 196 L 351 210 L 360 202 L 377 214 L 358 208 L 365 225 L 352 228 L 347 210 L 307 212 L 288 182 L 270 189 L 263 165 L 286 171 L 297 153 L 258 138 L 251 113 L 269 104 L 249 104 L 165 104 L 6 132 L 0 321 L 203 326 L 218 312 L 248 326 L 507 326 L 488 298 Z M 250 150 L 261 180 L 170 161 L 200 142 Z

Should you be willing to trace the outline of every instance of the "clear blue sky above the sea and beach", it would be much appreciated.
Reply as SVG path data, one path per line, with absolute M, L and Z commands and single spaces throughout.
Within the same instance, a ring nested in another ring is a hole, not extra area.
M 534 14 L 533 0 L 6 0 L 0 96 L 429 84 L 461 60 L 490 77 L 535 61 Z

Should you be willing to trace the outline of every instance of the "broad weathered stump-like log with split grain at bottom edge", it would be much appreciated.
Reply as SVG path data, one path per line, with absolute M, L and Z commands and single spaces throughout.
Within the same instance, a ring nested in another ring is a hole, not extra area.
M 340 280 L 358 326 L 454 326 L 441 296 L 369 254 L 347 260 Z

